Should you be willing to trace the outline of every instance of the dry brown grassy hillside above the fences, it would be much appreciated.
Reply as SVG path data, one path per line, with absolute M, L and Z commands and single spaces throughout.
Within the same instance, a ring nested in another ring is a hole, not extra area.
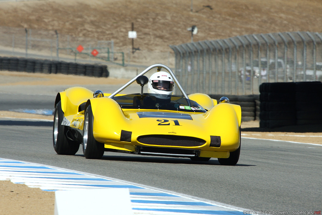
M 193 0 L 194 12 L 190 4 L 190 0 L 6 2 L 0 3 L 0 23 L 113 40 L 115 51 L 123 52 L 131 48 L 132 22 L 138 35 L 136 47 L 167 52 L 171 51 L 168 45 L 191 41 L 186 29 L 193 24 L 198 27 L 194 41 L 322 29 L 321 0 Z

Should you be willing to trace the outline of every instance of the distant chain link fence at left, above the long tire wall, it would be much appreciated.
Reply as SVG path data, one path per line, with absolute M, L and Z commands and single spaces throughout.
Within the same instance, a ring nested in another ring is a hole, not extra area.
M 77 47 L 81 45 L 82 50 Z M 74 37 L 59 34 L 57 31 L 45 31 L 0 26 L 0 49 L 4 54 L 43 58 L 51 60 L 69 59 L 102 60 L 124 66 L 124 53 L 114 52 L 113 41 Z M 97 55 L 92 54 L 93 50 Z

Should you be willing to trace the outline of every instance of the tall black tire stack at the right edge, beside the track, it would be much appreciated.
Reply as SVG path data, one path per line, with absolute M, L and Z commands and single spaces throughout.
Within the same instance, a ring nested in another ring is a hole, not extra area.
M 322 124 L 322 82 L 262 83 L 260 128 Z

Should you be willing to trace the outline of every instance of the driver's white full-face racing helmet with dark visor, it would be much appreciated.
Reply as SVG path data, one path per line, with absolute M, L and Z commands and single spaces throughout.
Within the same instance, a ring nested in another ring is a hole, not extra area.
M 175 82 L 169 73 L 156 72 L 149 79 L 147 92 L 154 94 L 159 99 L 170 99 L 174 84 Z

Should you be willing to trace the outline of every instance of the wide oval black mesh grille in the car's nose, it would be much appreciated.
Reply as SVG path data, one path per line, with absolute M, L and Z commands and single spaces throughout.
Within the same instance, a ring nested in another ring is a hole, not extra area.
M 206 143 L 206 141 L 200 138 L 176 135 L 143 135 L 139 136 L 137 141 L 147 145 L 183 147 L 202 146 Z

